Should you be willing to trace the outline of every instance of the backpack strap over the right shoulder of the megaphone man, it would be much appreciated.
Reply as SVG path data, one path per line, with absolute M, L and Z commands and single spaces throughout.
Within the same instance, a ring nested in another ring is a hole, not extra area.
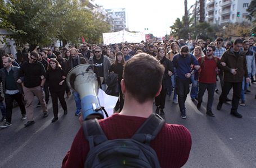
M 150 142 L 158 135 L 164 124 L 165 121 L 160 115 L 151 114 L 132 136 L 132 139 L 149 145 Z

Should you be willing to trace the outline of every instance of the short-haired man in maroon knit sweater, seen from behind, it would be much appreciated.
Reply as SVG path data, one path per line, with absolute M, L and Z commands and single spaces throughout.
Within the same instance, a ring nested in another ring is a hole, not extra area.
M 153 113 L 152 105 L 154 97 L 160 94 L 163 73 L 164 67 L 149 54 L 138 54 L 125 63 L 121 81 L 124 107 L 119 114 L 99 120 L 108 139 L 131 138 Z M 191 135 L 182 125 L 165 123 L 150 146 L 161 167 L 182 167 L 190 153 Z M 88 152 L 88 141 L 80 128 L 62 167 L 84 167 Z

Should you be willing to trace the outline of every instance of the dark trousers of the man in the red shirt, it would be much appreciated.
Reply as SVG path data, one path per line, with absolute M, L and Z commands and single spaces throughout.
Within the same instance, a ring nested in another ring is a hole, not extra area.
M 207 101 L 207 111 L 212 111 L 213 97 L 216 83 L 200 83 L 199 82 L 199 92 L 198 92 L 198 102 L 203 101 L 204 92 L 208 91 L 208 101 Z

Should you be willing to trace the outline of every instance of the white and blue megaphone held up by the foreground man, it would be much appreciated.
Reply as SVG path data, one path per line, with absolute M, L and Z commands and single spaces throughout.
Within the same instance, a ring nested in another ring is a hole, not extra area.
M 66 83 L 80 95 L 83 120 L 104 118 L 104 109 L 97 97 L 98 80 L 91 64 L 80 64 L 72 68 L 66 77 Z

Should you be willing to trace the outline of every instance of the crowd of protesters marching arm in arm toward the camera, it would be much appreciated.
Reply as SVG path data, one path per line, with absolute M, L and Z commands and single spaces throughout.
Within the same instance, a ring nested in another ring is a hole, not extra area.
M 54 118 L 58 120 L 58 99 L 64 115 L 68 113 L 65 102 L 70 97 L 70 89 L 66 86 L 66 74 L 79 64 L 93 64 L 93 71 L 104 78 L 100 87 L 107 91 L 110 73 L 118 74 L 118 83 L 123 78 L 125 62 L 138 53 L 147 53 L 163 64 L 165 71 L 159 96 L 155 97 L 155 113 L 164 115 L 165 99 L 171 99 L 178 104 L 181 118 L 186 118 L 185 102 L 190 92 L 192 101 L 197 101 L 200 109 L 205 90 L 208 90 L 206 114 L 214 116 L 212 111 L 214 92 L 219 92 L 216 82 L 221 83 L 221 96 L 217 110 L 221 110 L 226 101 L 232 101 L 231 115 L 242 118 L 237 111 L 239 104 L 245 106 L 245 94 L 250 83 L 255 81 L 255 52 L 254 38 L 238 38 L 233 43 L 224 42 L 222 38 L 210 40 L 164 40 L 148 41 L 147 43 L 122 43 L 113 45 L 96 45 L 83 43 L 78 46 L 39 49 L 30 46 L 21 52 L 16 59 L 11 54 L 4 54 L 1 59 L 0 82 L 2 94 L 0 109 L 4 122 L 0 127 L 11 126 L 11 116 L 14 100 L 21 110 L 21 120 L 27 119 L 25 127 L 34 124 L 34 96 L 38 98 L 37 106 L 42 107 L 43 117 L 48 116 L 47 104 L 52 99 Z M 143 67 L 141 67 L 143 71 Z M 150 75 L 150 74 L 149 74 Z M 144 81 L 132 81 L 144 82 Z M 191 86 L 191 91 L 190 91 Z M 114 111 L 121 111 L 124 97 L 120 86 L 117 87 L 119 99 Z M 232 100 L 227 95 L 233 88 Z M 81 102 L 79 93 L 73 91 L 76 110 L 80 115 Z M 256 95 L 255 95 L 256 99 Z M 5 102 L 5 104 L 3 103 Z M 169 111 L 168 109 L 165 111 Z

